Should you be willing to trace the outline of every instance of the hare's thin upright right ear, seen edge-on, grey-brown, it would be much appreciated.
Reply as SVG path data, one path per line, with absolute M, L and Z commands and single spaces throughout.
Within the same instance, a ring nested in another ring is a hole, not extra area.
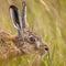
M 26 28 L 26 4 L 25 4 L 25 1 L 22 1 L 21 18 L 22 18 L 22 26 L 24 29 L 24 28 Z

